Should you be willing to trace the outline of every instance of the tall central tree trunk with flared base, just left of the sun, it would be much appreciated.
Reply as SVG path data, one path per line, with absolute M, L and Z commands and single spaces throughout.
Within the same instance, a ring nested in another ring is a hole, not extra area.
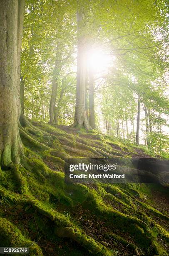
M 86 47 L 85 36 L 83 33 L 83 15 L 81 1 L 77 2 L 77 86 L 76 86 L 76 106 L 75 106 L 75 118 L 73 126 L 91 128 L 86 115 L 85 110 L 85 80 L 86 80 Z

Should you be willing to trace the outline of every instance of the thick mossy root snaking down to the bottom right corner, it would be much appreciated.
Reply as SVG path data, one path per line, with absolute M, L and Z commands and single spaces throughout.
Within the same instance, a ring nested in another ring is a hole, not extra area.
M 92 206 L 93 213 L 107 219 L 109 226 L 113 227 L 115 225 L 122 232 L 129 233 L 134 237 L 135 243 L 140 248 L 144 248 L 147 252 L 151 249 L 151 253 L 157 254 L 157 244 L 154 243 L 154 235 L 147 223 L 137 217 L 121 213 L 112 208 L 110 209 L 104 205 L 101 197 L 95 195 L 94 190 L 90 193 L 87 201 L 90 202 L 89 208 Z

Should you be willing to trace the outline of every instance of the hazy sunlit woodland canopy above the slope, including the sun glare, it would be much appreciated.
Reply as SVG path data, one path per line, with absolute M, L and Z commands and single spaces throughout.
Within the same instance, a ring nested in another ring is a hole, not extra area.
M 79 29 L 78 10 L 82 15 Z M 83 57 L 82 54 L 78 57 L 78 40 L 80 47 L 83 44 Z M 107 132 L 106 120 L 109 120 L 110 133 L 117 136 L 115 123 L 119 123 L 118 137 L 134 143 L 139 99 L 140 143 L 147 145 L 149 136 L 149 146 L 161 151 L 164 145 L 159 146 L 154 139 L 158 137 L 163 144 L 162 137 L 166 140 L 168 131 L 167 2 L 27 0 L 21 105 L 24 104 L 28 118 L 72 125 L 78 100 L 79 58 L 86 61 L 86 67 L 82 67 L 85 70 L 80 73 L 85 81 L 82 83 L 86 118 L 93 97 L 94 117 L 91 118 L 95 118 L 96 128 Z M 91 72 L 93 89 L 89 81 Z M 150 126 L 149 135 L 146 125 Z M 163 149 L 166 151 L 166 146 Z

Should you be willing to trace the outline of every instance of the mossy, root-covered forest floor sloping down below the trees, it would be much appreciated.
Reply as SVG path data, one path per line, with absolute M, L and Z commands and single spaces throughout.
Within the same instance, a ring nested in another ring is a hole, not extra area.
M 97 131 L 34 122 L 20 128 L 26 163 L 0 170 L 0 246 L 30 255 L 168 255 L 169 188 L 65 184 L 67 158 L 157 157 Z

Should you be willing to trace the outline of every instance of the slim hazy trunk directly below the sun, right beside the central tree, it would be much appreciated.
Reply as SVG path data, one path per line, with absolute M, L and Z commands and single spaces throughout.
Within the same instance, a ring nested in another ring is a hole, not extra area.
M 96 128 L 94 114 L 94 74 L 89 70 L 89 125 L 92 129 Z

